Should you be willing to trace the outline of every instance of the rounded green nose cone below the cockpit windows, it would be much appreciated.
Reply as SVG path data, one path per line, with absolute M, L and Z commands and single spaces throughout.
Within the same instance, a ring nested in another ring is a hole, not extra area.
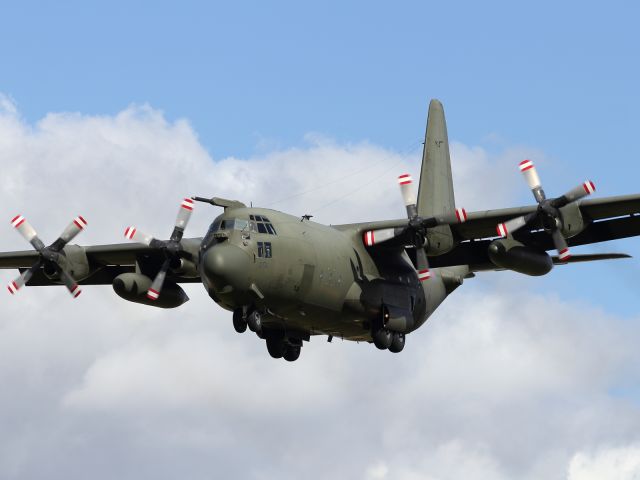
M 235 245 L 225 242 L 209 248 L 202 258 L 202 271 L 218 292 L 228 286 L 249 288 L 249 255 Z

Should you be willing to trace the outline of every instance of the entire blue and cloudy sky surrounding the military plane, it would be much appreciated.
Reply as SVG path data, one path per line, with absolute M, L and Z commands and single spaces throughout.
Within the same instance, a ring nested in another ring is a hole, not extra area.
M 402 217 L 430 98 L 468 211 L 530 204 L 523 158 L 552 195 L 640 192 L 631 2 L 132 3 L 0 2 L 0 250 L 17 213 L 168 236 L 185 195 Z M 7 295 L 0 478 L 640 478 L 640 243 L 576 250 L 636 258 L 482 274 L 400 355 L 314 338 L 294 364 L 197 285 L 169 311 Z

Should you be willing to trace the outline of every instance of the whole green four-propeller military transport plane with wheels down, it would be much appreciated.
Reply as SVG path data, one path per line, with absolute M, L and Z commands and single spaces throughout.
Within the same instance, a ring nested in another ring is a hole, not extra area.
M 548 198 L 533 162 L 520 163 L 536 204 L 468 213 L 454 202 L 442 104 L 429 105 L 417 196 L 398 178 L 407 218 L 325 226 L 221 198 L 186 198 L 169 240 L 135 227 L 136 243 L 78 246 L 77 217 L 49 246 L 18 215 L 12 225 L 34 250 L 0 254 L 0 268 L 19 269 L 8 285 L 112 285 L 125 300 L 173 308 L 188 300 L 180 283 L 202 283 L 233 312 L 233 326 L 266 340 L 272 357 L 296 360 L 314 335 L 374 343 L 400 352 L 406 335 L 475 272 L 544 275 L 554 264 L 623 258 L 572 256 L 569 248 L 640 235 L 640 194 L 583 200 L 586 181 Z M 195 201 L 222 207 L 202 238 L 183 238 Z M 551 256 L 549 250 L 556 250 Z

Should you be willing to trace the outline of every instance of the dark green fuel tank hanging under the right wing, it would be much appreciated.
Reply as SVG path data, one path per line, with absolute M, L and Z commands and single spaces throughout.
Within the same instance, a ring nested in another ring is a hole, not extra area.
M 497 267 L 534 277 L 546 275 L 553 268 L 553 261 L 546 252 L 526 247 L 509 238 L 491 242 L 489 259 Z

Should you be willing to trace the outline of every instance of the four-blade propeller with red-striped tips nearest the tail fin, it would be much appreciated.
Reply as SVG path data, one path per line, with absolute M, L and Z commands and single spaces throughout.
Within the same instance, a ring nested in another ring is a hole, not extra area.
M 400 192 L 407 208 L 409 226 L 403 229 L 383 228 L 379 230 L 369 230 L 364 234 L 364 243 L 370 247 L 372 245 L 396 238 L 408 233 L 411 236 L 411 243 L 416 248 L 416 267 L 418 279 L 421 282 L 431 278 L 429 261 L 425 252 L 427 243 L 427 229 L 439 225 L 452 225 L 467 221 L 467 212 L 464 208 L 456 208 L 452 213 L 429 218 L 422 218 L 418 215 L 417 197 L 413 189 L 411 175 L 404 174 L 398 177 Z

